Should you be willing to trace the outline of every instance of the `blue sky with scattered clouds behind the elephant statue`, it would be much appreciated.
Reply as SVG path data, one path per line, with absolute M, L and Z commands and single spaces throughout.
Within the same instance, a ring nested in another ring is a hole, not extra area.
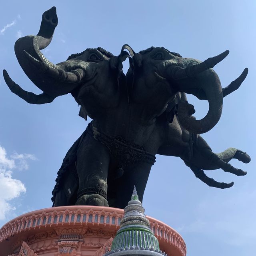
M 20 36 L 37 34 L 42 13 L 53 5 L 59 24 L 44 50 L 53 63 L 98 46 L 118 55 L 127 43 L 136 52 L 164 46 L 199 60 L 230 50 L 214 68 L 223 87 L 249 68 L 240 89 L 224 98 L 218 124 L 203 134 L 214 152 L 236 147 L 250 154 L 249 164 L 232 160 L 248 174 L 207 172 L 220 182 L 235 182 L 219 190 L 198 180 L 179 158 L 157 155 L 143 205 L 146 214 L 180 232 L 189 256 L 251 255 L 256 239 L 255 1 L 4 1 L 0 70 L 8 70 L 15 82 L 34 93 L 40 90 L 18 65 L 14 43 Z M 189 102 L 197 118 L 208 111 L 206 102 L 191 96 Z M 52 206 L 57 171 L 87 126 L 78 112 L 71 95 L 30 105 L 12 94 L 0 75 L 0 226 L 24 212 Z

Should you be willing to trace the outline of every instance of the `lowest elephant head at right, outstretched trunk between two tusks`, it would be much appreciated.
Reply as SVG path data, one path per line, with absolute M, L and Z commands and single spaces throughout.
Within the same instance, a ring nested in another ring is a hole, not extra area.
M 244 74 L 243 74 L 244 75 Z M 239 78 L 240 80 L 240 78 Z M 237 86 L 237 83 L 236 83 Z M 180 101 L 186 101 L 186 95 L 184 93 L 178 93 L 175 99 L 176 104 Z M 170 112 L 176 112 L 176 107 Z M 244 163 L 250 162 L 250 156 L 237 148 L 228 148 L 224 152 L 214 154 L 210 146 L 200 136 L 200 134 L 194 134 L 184 129 L 177 118 L 176 114 L 170 114 L 172 120 L 169 124 L 166 124 L 166 137 L 165 143 L 158 149 L 158 154 L 166 156 L 179 156 L 184 163 L 190 167 L 195 176 L 206 183 L 208 186 L 216 188 L 230 188 L 234 185 L 234 182 L 224 183 L 217 182 L 212 178 L 206 176 L 203 170 L 216 170 L 222 169 L 225 172 L 236 174 L 237 176 L 246 175 L 247 172 L 233 167 L 228 162 L 231 159 L 238 159 Z M 170 120 L 169 120 L 170 121 Z M 177 132 L 179 131 L 179 132 Z M 179 149 L 178 149 L 179 148 Z

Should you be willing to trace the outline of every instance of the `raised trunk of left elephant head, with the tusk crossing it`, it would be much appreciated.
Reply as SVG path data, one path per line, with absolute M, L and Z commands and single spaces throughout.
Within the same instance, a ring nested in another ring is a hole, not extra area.
M 16 57 L 25 74 L 49 98 L 71 92 L 86 76 L 88 67 L 86 63 L 78 61 L 74 63 L 74 70 L 66 72 L 66 62 L 54 65 L 40 52 L 50 44 L 57 25 L 56 8 L 52 7 L 43 13 L 38 34 L 19 38 L 14 46 Z M 69 68 L 70 66 L 68 70 Z

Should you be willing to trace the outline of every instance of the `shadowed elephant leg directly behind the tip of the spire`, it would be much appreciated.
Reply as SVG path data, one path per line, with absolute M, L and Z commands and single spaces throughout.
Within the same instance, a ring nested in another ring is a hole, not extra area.
M 151 166 L 152 164 L 149 163 L 138 162 L 125 167 L 124 174 L 111 185 L 116 200 L 110 206 L 124 209 L 131 200 L 134 185 L 142 202 Z

